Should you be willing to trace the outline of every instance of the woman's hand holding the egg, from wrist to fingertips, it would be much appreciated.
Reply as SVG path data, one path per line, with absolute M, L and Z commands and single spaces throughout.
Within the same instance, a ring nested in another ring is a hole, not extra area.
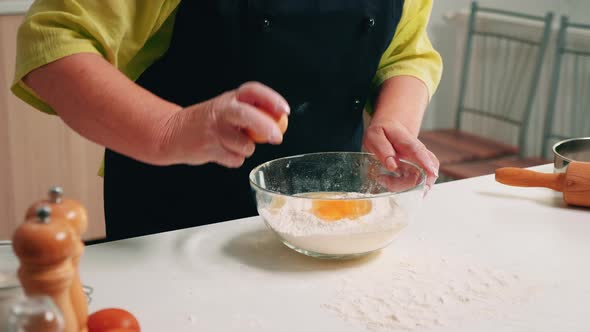
M 266 137 L 265 143 L 270 144 L 282 142 L 283 133 L 274 119 L 289 112 L 287 101 L 276 91 L 260 83 L 245 83 L 166 119 L 160 128 L 161 160 L 240 167 L 254 153 L 251 136 Z

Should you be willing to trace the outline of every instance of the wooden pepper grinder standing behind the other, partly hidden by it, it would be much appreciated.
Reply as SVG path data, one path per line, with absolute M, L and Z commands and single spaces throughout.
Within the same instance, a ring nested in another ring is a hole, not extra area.
M 48 199 L 42 200 L 33 204 L 27 210 L 27 219 L 33 217 L 40 206 L 47 205 L 51 207 L 51 215 L 54 219 L 65 220 L 68 227 L 72 229 L 72 238 L 74 240 L 74 254 L 72 256 L 72 263 L 75 274 L 70 289 L 70 297 L 72 299 L 72 306 L 76 312 L 76 318 L 80 326 L 80 332 L 86 332 L 86 322 L 88 320 L 88 301 L 84 294 L 82 282 L 80 278 L 80 257 L 84 253 L 84 242 L 82 242 L 82 235 L 88 228 L 88 213 L 80 202 L 67 199 L 63 197 L 63 189 L 61 187 L 52 187 L 49 189 Z

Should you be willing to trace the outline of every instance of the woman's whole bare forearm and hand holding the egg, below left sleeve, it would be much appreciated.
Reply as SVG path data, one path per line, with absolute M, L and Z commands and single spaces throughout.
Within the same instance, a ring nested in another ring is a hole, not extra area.
M 281 143 L 273 118 L 289 113 L 285 99 L 260 83 L 245 83 L 183 109 L 92 53 L 53 61 L 23 80 L 86 139 L 153 165 L 216 162 L 238 167 L 254 152 L 250 136 Z

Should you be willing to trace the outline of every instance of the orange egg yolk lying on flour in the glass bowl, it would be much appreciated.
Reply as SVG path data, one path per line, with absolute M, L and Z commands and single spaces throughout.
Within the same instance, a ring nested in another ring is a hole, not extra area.
M 328 198 L 329 194 L 318 195 L 318 198 Z M 309 196 L 308 196 L 309 197 Z M 373 205 L 370 200 L 346 199 L 346 200 L 322 200 L 312 202 L 311 212 L 324 221 L 332 222 L 341 219 L 355 220 L 371 212 Z

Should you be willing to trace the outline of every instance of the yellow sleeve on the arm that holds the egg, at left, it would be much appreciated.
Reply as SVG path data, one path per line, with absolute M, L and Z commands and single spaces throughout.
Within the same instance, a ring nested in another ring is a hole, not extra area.
M 164 54 L 180 0 L 38 0 L 18 30 L 13 93 L 54 111 L 22 81 L 32 70 L 76 53 L 96 53 L 136 79 Z

